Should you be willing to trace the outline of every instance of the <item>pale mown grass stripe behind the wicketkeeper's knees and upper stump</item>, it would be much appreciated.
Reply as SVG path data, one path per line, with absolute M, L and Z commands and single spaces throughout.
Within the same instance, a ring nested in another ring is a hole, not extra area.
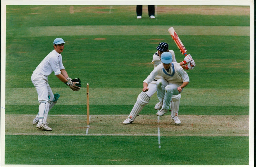
M 141 88 L 90 88 L 90 105 L 134 105 L 141 90 Z M 60 94 L 58 105 L 86 104 L 86 89 L 81 88 L 80 91 L 74 92 L 68 88 L 52 88 L 52 91 Z M 6 88 L 6 92 L 8 93 L 5 96 L 5 105 L 38 104 L 35 88 Z M 249 106 L 249 96 L 244 96 L 248 93 L 249 89 L 225 89 L 223 92 L 223 89 L 185 88 L 181 93 L 180 104 Z M 156 93 L 149 103 L 157 103 Z

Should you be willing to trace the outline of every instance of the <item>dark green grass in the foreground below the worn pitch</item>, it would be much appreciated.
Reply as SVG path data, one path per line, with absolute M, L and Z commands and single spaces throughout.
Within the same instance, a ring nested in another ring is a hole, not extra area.
M 156 141 L 157 136 L 6 135 L 5 163 L 248 165 L 248 137 L 162 137 L 161 149 Z M 40 152 L 44 156 L 38 156 Z

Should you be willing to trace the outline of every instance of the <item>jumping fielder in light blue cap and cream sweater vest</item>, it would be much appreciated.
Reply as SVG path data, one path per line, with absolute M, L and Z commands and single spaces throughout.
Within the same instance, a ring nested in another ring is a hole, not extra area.
M 156 82 L 157 98 L 159 103 L 155 109 L 159 110 L 156 115 L 163 116 L 167 113 L 173 95 L 179 95 L 184 87 L 189 83 L 189 77 L 186 71 L 180 66 L 180 63 L 172 62 L 172 54 L 164 52 L 161 55 L 161 62 L 143 81 L 143 92 L 149 90 L 148 84 L 151 83 L 157 75 L 162 76 Z

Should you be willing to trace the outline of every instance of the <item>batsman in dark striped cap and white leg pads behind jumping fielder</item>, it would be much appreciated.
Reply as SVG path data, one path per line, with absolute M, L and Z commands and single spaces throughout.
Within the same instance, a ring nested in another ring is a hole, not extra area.
M 157 65 L 161 64 L 161 59 L 160 56 L 161 54 L 163 54 L 164 52 L 170 52 L 172 54 L 172 61 L 173 62 L 177 62 L 175 59 L 175 54 L 173 50 L 169 50 L 169 45 L 165 42 L 161 42 L 159 43 L 159 46 L 156 47 L 157 52 L 153 55 L 153 60 L 152 60 L 152 64 L 154 64 L 154 68 L 156 68 Z M 180 66 L 183 69 L 193 69 L 196 64 L 193 60 L 193 58 L 191 57 L 191 55 L 189 54 L 188 56 L 186 56 L 184 58 L 184 61 L 180 62 Z M 137 98 L 136 103 L 134 104 L 131 113 L 129 114 L 128 118 L 126 120 L 124 120 L 123 124 L 130 124 L 132 123 L 135 118 L 138 116 L 138 114 L 142 111 L 142 109 L 144 108 L 145 105 L 148 104 L 150 98 L 153 96 L 153 94 L 157 91 L 156 90 L 156 82 L 158 79 L 162 78 L 162 76 L 157 75 L 154 80 L 148 84 L 148 91 L 146 92 L 141 92 Z M 170 108 L 171 108 L 171 116 L 172 116 L 172 120 L 174 121 L 174 123 L 176 125 L 180 125 L 181 121 L 178 117 L 178 112 L 179 112 L 179 106 L 180 106 L 180 94 L 178 95 L 173 95 L 172 96 L 172 101 L 170 103 Z M 156 107 L 156 110 L 161 109 L 161 107 Z

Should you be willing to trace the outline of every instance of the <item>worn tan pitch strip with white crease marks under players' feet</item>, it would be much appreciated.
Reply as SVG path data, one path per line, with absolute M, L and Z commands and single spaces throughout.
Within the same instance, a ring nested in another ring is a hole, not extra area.
M 5 115 L 5 134 L 14 135 L 148 135 L 157 136 L 249 136 L 248 115 L 180 115 L 175 125 L 171 115 L 140 115 L 132 124 L 124 125 L 127 115 L 49 115 L 52 131 L 32 125 L 34 115 Z M 159 120 L 158 120 L 159 119 Z M 20 124 L 13 124 L 21 120 Z M 22 125 L 22 126 L 21 126 Z M 86 132 L 87 131 L 87 132 Z

